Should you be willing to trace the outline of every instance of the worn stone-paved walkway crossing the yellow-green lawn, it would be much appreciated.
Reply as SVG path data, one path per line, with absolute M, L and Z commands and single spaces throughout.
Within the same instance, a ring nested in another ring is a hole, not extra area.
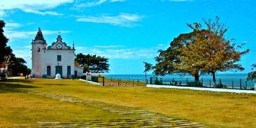
M 99 107 L 106 111 L 118 113 L 123 119 L 116 120 L 93 120 L 93 121 L 70 121 L 70 122 L 37 122 L 34 126 L 20 127 L 208 127 L 188 120 L 170 118 L 160 113 L 145 111 L 144 109 L 125 107 L 116 104 L 107 104 L 99 101 L 84 100 L 63 94 L 34 91 L 30 94 L 44 96 L 46 98 L 67 101 L 77 105 Z

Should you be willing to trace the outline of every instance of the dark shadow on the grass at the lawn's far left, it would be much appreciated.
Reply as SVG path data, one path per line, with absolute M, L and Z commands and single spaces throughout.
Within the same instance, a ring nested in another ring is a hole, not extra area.
M 8 82 L 0 82 L 0 93 L 8 93 L 8 92 L 28 92 L 28 89 L 38 88 L 32 85 L 21 85 L 20 83 L 14 82 L 29 82 L 26 80 L 9 80 Z

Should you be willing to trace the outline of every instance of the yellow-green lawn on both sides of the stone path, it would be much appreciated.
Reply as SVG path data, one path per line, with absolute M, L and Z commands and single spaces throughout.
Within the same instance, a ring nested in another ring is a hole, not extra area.
M 0 126 L 37 121 L 122 118 L 101 109 L 63 103 L 27 94 L 30 90 L 56 92 L 86 100 L 140 107 L 211 127 L 256 127 L 256 95 L 223 92 L 93 86 L 78 80 L 10 80 L 0 82 Z

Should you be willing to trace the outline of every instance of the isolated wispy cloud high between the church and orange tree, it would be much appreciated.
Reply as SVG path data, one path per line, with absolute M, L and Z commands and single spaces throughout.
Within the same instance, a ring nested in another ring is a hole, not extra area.
M 76 21 L 92 22 L 92 23 L 105 23 L 112 25 L 120 25 L 123 27 L 133 27 L 133 22 L 141 21 L 144 16 L 138 14 L 120 14 L 117 16 L 80 16 Z

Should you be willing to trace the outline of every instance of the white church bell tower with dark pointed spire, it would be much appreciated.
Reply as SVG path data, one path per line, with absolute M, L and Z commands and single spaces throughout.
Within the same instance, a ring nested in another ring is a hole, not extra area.
M 47 43 L 40 28 L 36 37 L 32 40 L 32 75 L 33 77 L 42 77 L 43 50 L 46 49 Z

